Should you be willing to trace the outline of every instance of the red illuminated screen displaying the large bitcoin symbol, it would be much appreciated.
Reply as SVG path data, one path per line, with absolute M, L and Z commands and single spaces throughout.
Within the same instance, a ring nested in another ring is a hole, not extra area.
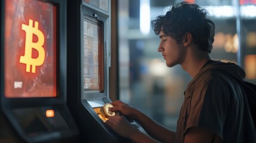
M 5 97 L 56 97 L 56 5 L 5 0 Z

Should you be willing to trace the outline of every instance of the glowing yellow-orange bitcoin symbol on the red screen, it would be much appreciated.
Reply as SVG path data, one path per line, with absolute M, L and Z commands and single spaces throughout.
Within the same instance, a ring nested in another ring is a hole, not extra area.
M 20 63 L 26 64 L 26 72 L 31 71 L 36 73 L 36 66 L 41 66 L 45 60 L 45 51 L 42 45 L 44 45 L 44 34 L 38 29 L 38 21 L 35 21 L 35 27 L 33 27 L 33 20 L 29 20 L 29 25 L 21 25 L 21 29 L 26 32 L 25 52 L 20 56 Z M 38 42 L 33 42 L 33 34 L 38 37 Z M 38 57 L 32 58 L 32 48 L 38 51 Z

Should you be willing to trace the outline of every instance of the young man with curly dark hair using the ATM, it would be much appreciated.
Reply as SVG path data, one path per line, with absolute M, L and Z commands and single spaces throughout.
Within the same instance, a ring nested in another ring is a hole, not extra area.
M 109 128 L 133 142 L 256 142 L 248 103 L 243 98 L 243 69 L 233 63 L 214 61 L 209 56 L 215 24 L 196 4 L 181 2 L 166 15 L 152 21 L 161 39 L 158 51 L 168 67 L 180 64 L 193 77 L 187 86 L 176 132 L 159 125 L 121 101 L 111 111 L 137 120 L 147 134 L 130 125 L 124 116 L 105 122 Z

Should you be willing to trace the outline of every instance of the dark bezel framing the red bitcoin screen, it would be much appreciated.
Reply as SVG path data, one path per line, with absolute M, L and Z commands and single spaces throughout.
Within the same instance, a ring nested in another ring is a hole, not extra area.
M 42 0 L 39 0 L 42 1 Z M 44 0 L 56 6 L 56 97 L 32 97 L 32 98 L 6 98 L 4 85 L 4 27 L 5 27 L 5 1 L 1 1 L 1 97 L 2 107 L 31 107 L 52 105 L 66 102 L 66 2 L 61 0 Z

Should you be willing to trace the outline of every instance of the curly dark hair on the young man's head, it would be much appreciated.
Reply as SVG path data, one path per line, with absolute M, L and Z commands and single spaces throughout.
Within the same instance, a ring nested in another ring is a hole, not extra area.
M 188 2 L 173 4 L 171 10 L 165 15 L 159 15 L 151 23 L 156 35 L 162 30 L 177 43 L 181 43 L 185 33 L 191 33 L 192 41 L 199 49 L 211 53 L 215 24 L 209 19 L 207 11 L 199 5 Z

